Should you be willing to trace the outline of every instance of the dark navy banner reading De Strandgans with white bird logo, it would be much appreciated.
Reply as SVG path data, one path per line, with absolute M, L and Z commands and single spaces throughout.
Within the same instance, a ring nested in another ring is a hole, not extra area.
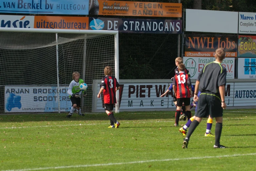
M 182 20 L 89 17 L 90 30 L 118 30 L 122 33 L 181 34 L 181 24 Z

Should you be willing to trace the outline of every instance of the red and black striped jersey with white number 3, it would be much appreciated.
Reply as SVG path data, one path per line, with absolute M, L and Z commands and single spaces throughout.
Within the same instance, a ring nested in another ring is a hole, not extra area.
M 104 103 L 114 104 L 116 103 L 116 88 L 119 87 L 119 83 L 113 76 L 105 76 L 101 80 L 100 88 L 104 88 Z

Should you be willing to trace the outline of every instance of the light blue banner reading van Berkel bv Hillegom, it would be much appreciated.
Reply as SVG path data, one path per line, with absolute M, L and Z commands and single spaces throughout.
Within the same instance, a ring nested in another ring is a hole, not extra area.
M 89 0 L 1 0 L 1 12 L 88 15 Z

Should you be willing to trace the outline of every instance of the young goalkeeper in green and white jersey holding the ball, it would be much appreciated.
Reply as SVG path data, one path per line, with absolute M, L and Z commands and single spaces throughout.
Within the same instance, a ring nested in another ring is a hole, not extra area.
M 79 72 L 73 72 L 72 74 L 72 81 L 69 84 L 68 94 L 70 97 L 70 100 L 72 102 L 72 107 L 70 110 L 70 113 L 67 115 L 67 118 L 70 118 L 76 109 L 77 114 L 80 116 L 84 116 L 83 113 L 81 113 L 81 96 L 86 96 L 86 91 L 80 90 L 79 86 L 81 83 L 84 83 L 84 80 L 79 79 L 80 74 Z

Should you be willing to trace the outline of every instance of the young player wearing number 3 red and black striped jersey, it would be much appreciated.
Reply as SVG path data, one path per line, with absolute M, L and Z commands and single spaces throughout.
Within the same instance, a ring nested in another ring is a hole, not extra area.
M 97 95 L 100 98 L 100 94 L 104 95 L 104 108 L 110 119 L 110 126 L 108 128 L 118 128 L 120 123 L 116 121 L 113 109 L 114 103 L 116 103 L 116 91 L 120 89 L 117 79 L 112 76 L 113 71 L 110 66 L 106 66 L 104 69 L 105 77 L 102 78 L 100 84 L 100 92 Z

